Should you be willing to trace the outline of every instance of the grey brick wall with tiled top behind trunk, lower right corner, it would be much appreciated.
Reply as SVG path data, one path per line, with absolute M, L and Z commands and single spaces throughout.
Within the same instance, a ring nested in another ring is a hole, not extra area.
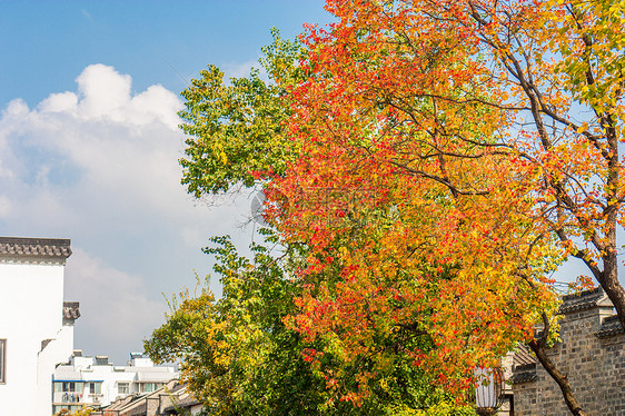
M 625 415 L 625 334 L 602 289 L 563 298 L 562 341 L 547 354 L 589 416 Z M 571 415 L 545 369 L 515 368 L 515 416 Z

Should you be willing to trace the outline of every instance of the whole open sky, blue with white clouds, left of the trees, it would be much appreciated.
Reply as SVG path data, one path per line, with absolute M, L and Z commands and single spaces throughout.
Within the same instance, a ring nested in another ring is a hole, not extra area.
M 210 236 L 251 242 L 247 196 L 198 202 L 179 184 L 179 92 L 208 63 L 247 73 L 271 27 L 329 19 L 319 0 L 0 0 L 0 235 L 72 239 L 76 348 L 122 364 L 162 294 L 210 271 Z

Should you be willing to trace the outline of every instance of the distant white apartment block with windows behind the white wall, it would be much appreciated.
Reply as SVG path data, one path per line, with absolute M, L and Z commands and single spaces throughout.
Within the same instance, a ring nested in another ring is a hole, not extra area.
M 83 357 L 75 350 L 70 361 L 54 370 L 52 413 L 85 405 L 100 408 L 132 394 L 156 392 L 177 377 L 175 367 L 155 366 L 139 353 L 130 354 L 126 366 L 116 366 L 107 356 Z

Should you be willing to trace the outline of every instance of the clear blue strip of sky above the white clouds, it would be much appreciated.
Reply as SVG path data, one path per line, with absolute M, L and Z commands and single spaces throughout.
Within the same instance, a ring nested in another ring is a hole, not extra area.
M 71 90 L 91 63 L 132 77 L 136 90 L 171 91 L 207 63 L 237 67 L 258 57 L 278 27 L 295 37 L 325 23 L 319 0 L 1 1 L 0 101 L 34 105 Z M 179 73 L 178 73 L 179 72 Z

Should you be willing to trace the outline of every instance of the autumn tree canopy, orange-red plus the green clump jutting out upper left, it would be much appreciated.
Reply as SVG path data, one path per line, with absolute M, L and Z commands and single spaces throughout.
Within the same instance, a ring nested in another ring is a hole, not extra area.
M 344 397 L 391 363 L 380 335 L 409 330 L 449 388 L 525 340 L 584 414 L 544 354 L 545 276 L 582 259 L 623 323 L 619 6 L 329 0 L 338 21 L 309 28 L 305 56 L 269 55 L 292 76 L 227 87 L 212 69 L 186 91 L 189 190 L 261 178 L 281 242 L 309 250 L 288 325 L 344 364 L 373 358 Z

